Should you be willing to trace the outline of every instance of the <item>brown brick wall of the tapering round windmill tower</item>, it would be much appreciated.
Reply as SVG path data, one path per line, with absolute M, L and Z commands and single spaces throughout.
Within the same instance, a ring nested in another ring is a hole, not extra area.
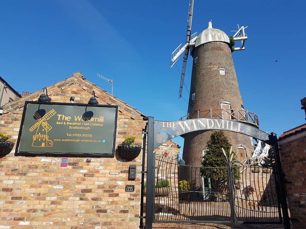
M 195 100 L 189 98 L 188 113 L 221 109 L 220 102 L 231 103 L 231 109 L 244 109 L 236 71 L 230 47 L 224 42 L 208 42 L 199 45 L 193 51 L 193 58 L 198 62 L 192 66 L 190 95 L 196 93 Z M 219 68 L 225 68 L 226 75 L 220 75 Z M 201 113 L 200 113 L 201 117 Z M 213 131 L 196 131 L 185 134 L 183 158 L 186 164 L 201 166 L 202 151 L 206 149 L 207 141 Z M 244 147 L 246 154 L 251 156 L 254 146 L 249 136 L 224 131 L 233 151 Z

